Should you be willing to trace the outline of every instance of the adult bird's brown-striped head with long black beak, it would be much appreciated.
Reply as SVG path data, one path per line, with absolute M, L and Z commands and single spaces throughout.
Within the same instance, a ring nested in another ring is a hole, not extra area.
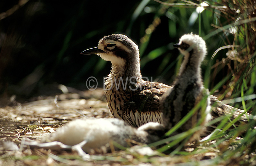
M 127 62 L 140 62 L 138 46 L 123 34 L 105 36 L 99 41 L 98 47 L 85 50 L 81 54 L 99 55 L 103 60 L 111 61 L 116 66 L 123 66 Z

